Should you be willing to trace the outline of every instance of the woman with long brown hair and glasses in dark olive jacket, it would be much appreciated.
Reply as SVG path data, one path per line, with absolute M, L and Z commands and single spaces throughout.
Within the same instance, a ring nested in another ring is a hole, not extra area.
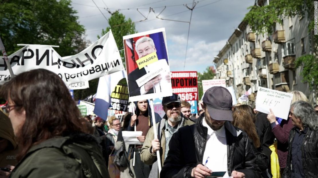
M 23 72 L 3 85 L 2 95 L 21 148 L 10 177 L 109 177 L 101 150 L 85 133 L 58 75 L 45 69 Z

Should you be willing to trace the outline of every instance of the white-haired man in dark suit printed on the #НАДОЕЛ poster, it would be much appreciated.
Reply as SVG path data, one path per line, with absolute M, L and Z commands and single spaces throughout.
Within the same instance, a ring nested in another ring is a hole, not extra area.
M 136 41 L 135 44 L 135 50 L 138 54 L 138 59 L 147 56 L 153 52 L 156 52 L 156 47 L 154 41 L 147 36 L 144 36 L 142 38 L 139 38 Z M 136 60 L 138 60 L 136 59 Z M 163 59 L 164 60 L 164 59 Z M 154 63 L 152 63 L 154 64 Z M 149 64 L 151 65 L 151 64 Z M 155 64 L 154 64 L 155 65 Z M 153 68 L 153 67 L 152 67 Z M 160 84 L 157 85 L 162 81 L 162 78 L 165 78 L 167 82 L 170 81 L 170 74 L 167 74 L 165 76 L 158 75 L 151 79 L 149 82 L 146 82 L 142 86 L 138 86 L 136 80 L 140 77 L 146 75 L 150 72 L 149 66 L 145 66 L 142 69 L 136 68 L 134 71 L 128 74 L 128 88 L 129 88 L 129 96 L 139 96 L 139 95 L 145 95 L 150 93 L 156 93 L 159 90 L 161 91 Z

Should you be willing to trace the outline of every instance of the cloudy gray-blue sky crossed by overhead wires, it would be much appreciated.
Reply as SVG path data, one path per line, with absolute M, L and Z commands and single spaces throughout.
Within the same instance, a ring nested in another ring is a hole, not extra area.
M 131 18 L 138 32 L 165 28 L 168 55 L 171 71 L 202 72 L 207 66 L 213 65 L 213 56 L 223 48 L 226 40 L 248 12 L 247 8 L 254 0 L 196 0 L 192 12 L 187 57 L 185 59 L 187 36 L 192 7 L 191 0 L 73 0 L 72 6 L 78 11 L 79 22 L 86 28 L 87 39 L 97 40 L 97 35 L 106 29 L 107 12 L 120 9 L 120 12 Z M 100 8 L 101 12 L 95 6 Z M 184 5 L 183 5 L 184 4 Z M 164 9 L 164 6 L 166 8 Z M 149 13 L 149 8 L 155 12 Z M 137 11 L 140 11 L 140 13 Z M 128 10 L 129 9 L 129 10 Z M 163 10 L 164 9 L 164 10 Z M 163 10 L 163 11 L 162 11 Z M 158 14 L 162 13 L 158 16 Z M 156 16 L 176 22 L 161 20 Z M 118 47 L 123 49 L 123 47 Z M 184 66 L 185 61 L 185 68 Z

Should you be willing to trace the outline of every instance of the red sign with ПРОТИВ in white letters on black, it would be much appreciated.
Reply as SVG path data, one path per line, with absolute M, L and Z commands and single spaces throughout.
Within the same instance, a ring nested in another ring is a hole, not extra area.
M 172 92 L 191 104 L 191 113 L 197 113 L 197 71 L 170 72 Z

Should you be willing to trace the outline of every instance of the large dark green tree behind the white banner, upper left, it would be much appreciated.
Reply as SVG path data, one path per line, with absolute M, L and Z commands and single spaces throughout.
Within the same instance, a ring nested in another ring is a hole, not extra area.
M 8 55 L 23 44 L 59 45 L 61 56 L 85 48 L 85 29 L 77 20 L 70 0 L 0 1 L 0 36 Z

